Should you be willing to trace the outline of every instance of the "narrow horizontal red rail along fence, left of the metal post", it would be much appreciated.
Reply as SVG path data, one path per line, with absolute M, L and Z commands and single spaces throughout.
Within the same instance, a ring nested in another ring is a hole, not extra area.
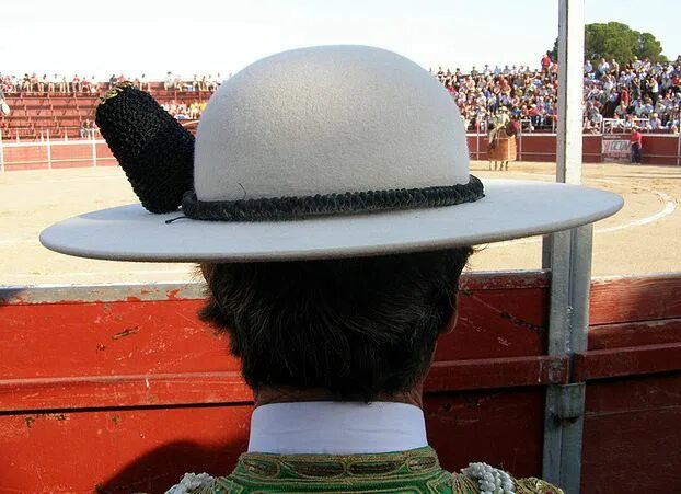
M 567 359 L 496 358 L 436 363 L 430 392 L 567 381 Z M 235 404 L 253 400 L 239 371 L 0 380 L 0 412 Z

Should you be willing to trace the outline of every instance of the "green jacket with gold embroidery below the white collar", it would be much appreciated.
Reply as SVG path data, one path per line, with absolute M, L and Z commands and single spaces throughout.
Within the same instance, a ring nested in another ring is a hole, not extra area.
M 563 494 L 534 478 L 513 480 L 513 487 L 516 494 Z M 442 470 L 436 452 L 426 447 L 350 456 L 244 453 L 230 475 L 192 493 L 478 494 L 481 490 L 476 479 Z

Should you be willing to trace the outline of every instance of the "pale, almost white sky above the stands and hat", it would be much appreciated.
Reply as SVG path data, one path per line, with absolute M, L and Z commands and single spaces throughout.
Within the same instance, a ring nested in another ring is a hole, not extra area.
M 678 0 L 586 0 L 587 22 L 620 21 L 681 54 Z M 0 71 L 128 77 L 227 76 L 273 53 L 366 44 L 424 67 L 539 65 L 557 0 L 3 2 Z M 676 24 L 676 25 L 674 25 Z

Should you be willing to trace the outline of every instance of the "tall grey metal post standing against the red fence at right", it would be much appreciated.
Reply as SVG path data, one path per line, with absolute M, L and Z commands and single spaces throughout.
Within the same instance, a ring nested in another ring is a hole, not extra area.
M 584 0 L 559 0 L 556 181 L 581 182 Z M 544 237 L 542 265 L 551 268 L 549 354 L 572 356 L 587 346 L 591 225 Z M 544 411 L 542 476 L 578 494 L 585 384 L 551 386 Z

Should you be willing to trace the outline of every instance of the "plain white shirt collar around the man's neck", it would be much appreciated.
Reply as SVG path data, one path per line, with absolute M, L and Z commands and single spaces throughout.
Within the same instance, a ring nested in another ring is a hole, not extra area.
M 423 411 L 393 402 L 293 402 L 258 406 L 249 452 L 359 455 L 428 445 Z

